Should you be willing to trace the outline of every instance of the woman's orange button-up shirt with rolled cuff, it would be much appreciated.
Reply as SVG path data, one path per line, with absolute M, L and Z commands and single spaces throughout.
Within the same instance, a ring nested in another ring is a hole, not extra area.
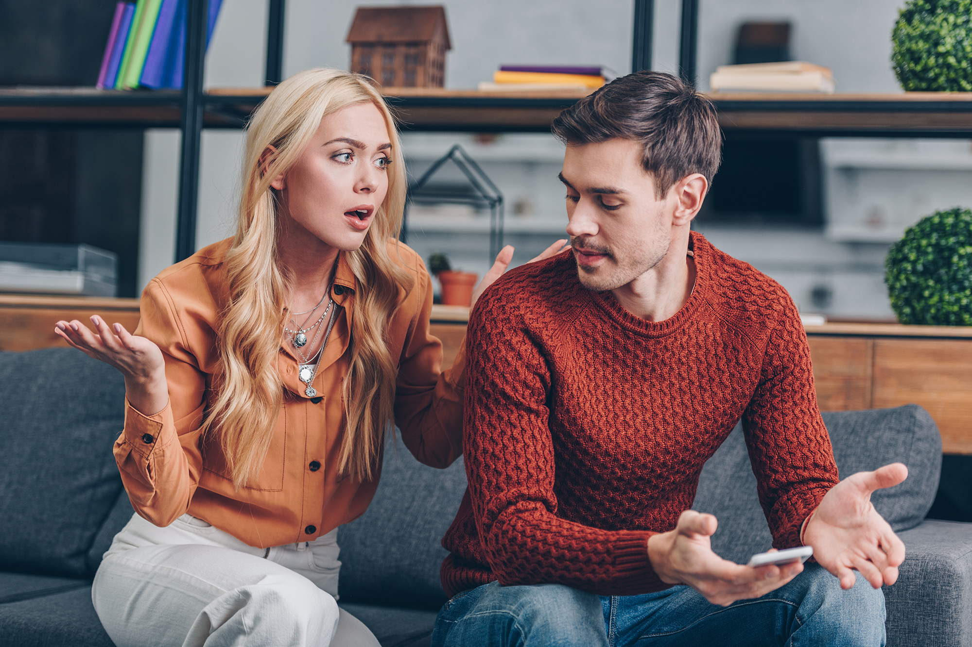
M 200 250 L 164 270 L 142 293 L 136 334 L 162 351 L 169 402 L 153 416 L 126 403 L 115 460 L 135 511 L 156 526 L 189 512 L 250 546 L 309 541 L 364 513 L 378 485 L 380 464 L 373 480 L 365 482 L 336 470 L 345 431 L 341 381 L 349 369 L 357 283 L 341 254 L 331 296 L 342 307 L 312 385 L 314 399 L 321 398 L 317 403 L 304 395 L 298 359 L 282 345 L 278 366 L 285 392 L 270 449 L 256 479 L 236 490 L 219 443 L 200 429 L 219 362 L 214 328 L 227 301 L 223 259 L 228 247 L 227 239 Z M 462 454 L 465 342 L 452 369 L 443 372 L 441 342 L 429 333 L 429 273 L 403 245 L 392 257 L 400 257 L 415 277 L 387 333 L 389 351 L 399 358 L 396 423 L 416 459 L 446 467 Z

